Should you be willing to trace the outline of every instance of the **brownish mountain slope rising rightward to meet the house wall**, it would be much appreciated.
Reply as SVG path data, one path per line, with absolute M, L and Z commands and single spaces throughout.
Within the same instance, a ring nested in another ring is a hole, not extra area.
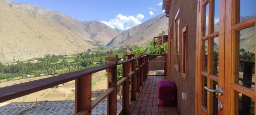
M 168 18 L 165 14 L 160 14 L 142 24 L 124 31 L 114 37 L 107 45 L 110 47 L 120 47 L 123 45 L 146 44 L 153 40 L 162 30 L 168 30 Z

